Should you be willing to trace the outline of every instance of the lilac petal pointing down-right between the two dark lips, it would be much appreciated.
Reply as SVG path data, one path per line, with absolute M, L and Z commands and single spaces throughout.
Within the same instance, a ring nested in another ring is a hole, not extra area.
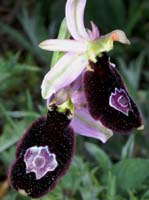
M 105 143 L 112 135 L 99 121 L 94 120 L 86 108 L 76 109 L 70 126 L 80 135 L 92 137 Z

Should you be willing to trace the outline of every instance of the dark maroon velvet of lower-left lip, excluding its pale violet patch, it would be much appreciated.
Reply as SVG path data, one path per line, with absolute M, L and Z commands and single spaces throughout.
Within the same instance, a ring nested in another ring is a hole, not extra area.
M 67 115 L 56 110 L 48 117 L 37 119 L 23 135 L 17 146 L 16 161 L 9 170 L 9 181 L 17 191 L 24 190 L 32 198 L 42 197 L 54 189 L 59 179 L 66 174 L 75 150 L 75 137 Z M 34 172 L 27 173 L 24 155 L 30 147 L 47 146 L 56 155 L 58 166 L 37 179 Z

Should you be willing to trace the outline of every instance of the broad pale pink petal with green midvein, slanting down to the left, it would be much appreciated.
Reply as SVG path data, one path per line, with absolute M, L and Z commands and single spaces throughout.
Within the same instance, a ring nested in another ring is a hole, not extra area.
M 41 85 L 42 97 L 48 99 L 59 89 L 72 83 L 87 65 L 85 55 L 65 54 L 44 77 Z

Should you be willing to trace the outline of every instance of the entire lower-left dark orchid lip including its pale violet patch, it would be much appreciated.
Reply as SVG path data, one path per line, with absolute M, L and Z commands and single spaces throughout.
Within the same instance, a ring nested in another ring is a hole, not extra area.
M 9 170 L 13 188 L 32 198 L 51 191 L 71 163 L 75 139 L 67 114 L 56 108 L 36 120 L 17 146 L 17 160 Z

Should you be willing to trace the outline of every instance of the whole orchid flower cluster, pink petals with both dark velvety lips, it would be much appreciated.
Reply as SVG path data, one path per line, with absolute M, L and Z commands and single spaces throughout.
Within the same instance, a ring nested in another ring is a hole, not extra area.
M 142 128 L 142 119 L 119 72 L 106 52 L 113 42 L 129 44 L 125 33 L 100 35 L 84 26 L 86 0 L 67 0 L 66 21 L 73 39 L 50 39 L 40 47 L 65 52 L 43 79 L 46 117 L 37 119 L 17 145 L 9 181 L 18 192 L 39 198 L 51 191 L 67 172 L 75 135 L 106 142 L 113 130 L 128 133 Z

